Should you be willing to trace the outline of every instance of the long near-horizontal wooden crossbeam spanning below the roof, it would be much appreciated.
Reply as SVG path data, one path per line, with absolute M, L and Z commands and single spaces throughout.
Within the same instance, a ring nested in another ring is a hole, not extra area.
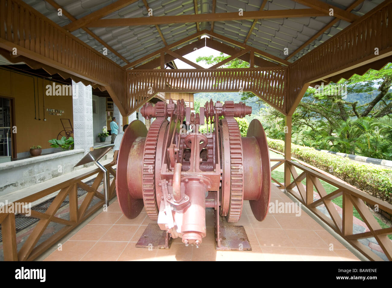
M 238 12 L 230 13 L 210 13 L 195 15 L 178 16 L 149 16 L 140 18 L 112 18 L 100 19 L 86 23 L 84 27 L 120 27 L 120 26 L 139 26 L 156 24 L 192 23 L 192 22 L 211 22 L 245 20 L 245 19 L 276 19 L 276 18 L 302 18 L 328 16 L 325 12 L 318 9 L 285 9 L 270 11 L 244 11 L 243 15 Z

